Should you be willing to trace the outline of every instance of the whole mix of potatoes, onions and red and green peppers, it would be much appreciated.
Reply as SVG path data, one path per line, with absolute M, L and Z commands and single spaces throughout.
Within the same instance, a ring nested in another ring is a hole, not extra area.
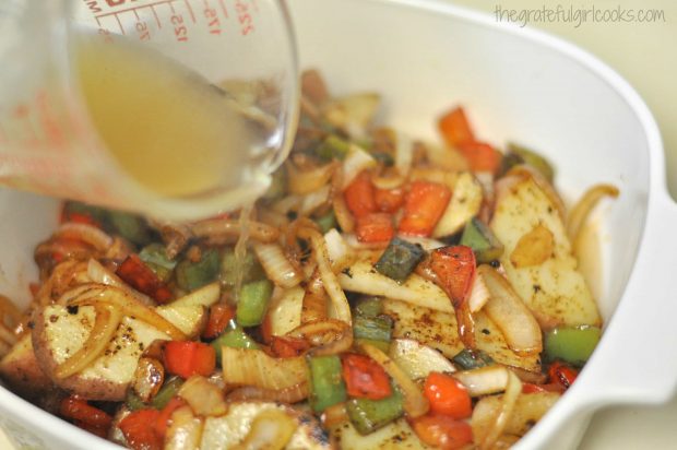
M 373 125 L 379 96 L 302 76 L 288 161 L 251 209 L 189 224 L 66 202 L 0 375 L 131 449 L 514 443 L 574 382 L 602 320 L 555 170 L 478 140 Z

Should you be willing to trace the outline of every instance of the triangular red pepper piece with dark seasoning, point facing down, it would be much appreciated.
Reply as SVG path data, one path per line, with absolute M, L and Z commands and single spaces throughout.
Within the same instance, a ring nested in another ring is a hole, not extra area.
M 430 269 L 454 308 L 460 308 L 470 295 L 475 267 L 475 253 L 467 246 L 442 247 L 430 253 Z

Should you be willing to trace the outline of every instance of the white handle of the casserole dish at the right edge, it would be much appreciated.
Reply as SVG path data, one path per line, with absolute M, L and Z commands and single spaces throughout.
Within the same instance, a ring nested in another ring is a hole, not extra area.
M 587 378 L 584 384 L 590 387 L 585 396 L 591 405 L 660 403 L 674 393 L 677 386 L 675 242 L 677 204 L 667 192 L 661 192 L 650 201 L 644 235 L 626 293 L 589 362 L 592 370 L 583 374 Z

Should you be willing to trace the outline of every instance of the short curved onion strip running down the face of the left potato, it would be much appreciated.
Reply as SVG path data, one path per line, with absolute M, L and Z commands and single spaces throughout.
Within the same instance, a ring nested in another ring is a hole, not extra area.
M 106 350 L 122 320 L 117 305 L 91 304 L 96 313 L 94 327 L 82 347 L 55 369 L 55 377 L 68 378 L 88 367 Z

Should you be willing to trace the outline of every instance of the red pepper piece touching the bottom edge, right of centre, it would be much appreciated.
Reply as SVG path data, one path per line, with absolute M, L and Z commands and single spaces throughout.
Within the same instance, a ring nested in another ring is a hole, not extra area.
M 473 442 L 473 428 L 463 421 L 441 414 L 427 414 L 412 421 L 416 436 L 428 446 L 443 450 L 465 448 Z

